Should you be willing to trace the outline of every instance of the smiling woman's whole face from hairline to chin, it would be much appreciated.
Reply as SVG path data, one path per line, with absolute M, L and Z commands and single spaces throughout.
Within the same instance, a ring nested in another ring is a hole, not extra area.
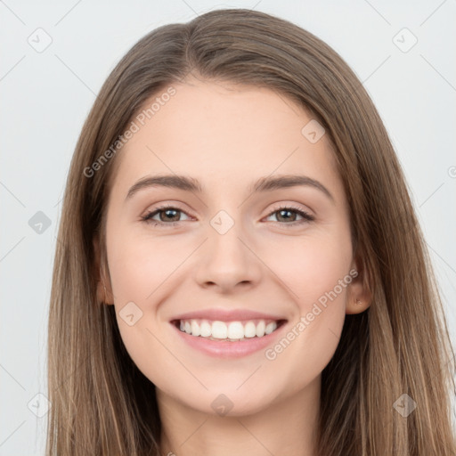
M 365 309 L 346 195 L 327 135 L 315 141 L 322 131 L 294 102 L 227 83 L 173 87 L 116 157 L 110 304 L 160 398 L 261 411 L 320 381 L 345 314 Z M 144 183 L 164 175 L 174 181 Z M 283 176 L 297 179 L 265 181 Z

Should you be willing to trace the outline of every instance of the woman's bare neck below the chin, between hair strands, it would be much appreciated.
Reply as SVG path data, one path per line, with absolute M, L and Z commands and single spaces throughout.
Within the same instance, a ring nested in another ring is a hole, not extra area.
M 162 454 L 172 456 L 314 456 L 321 377 L 252 414 L 194 410 L 157 388 Z

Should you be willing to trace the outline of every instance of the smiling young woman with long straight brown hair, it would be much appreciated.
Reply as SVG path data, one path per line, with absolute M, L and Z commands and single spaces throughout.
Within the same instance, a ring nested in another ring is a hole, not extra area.
M 302 28 L 218 10 L 143 37 L 85 122 L 59 240 L 48 455 L 456 451 L 403 172 Z

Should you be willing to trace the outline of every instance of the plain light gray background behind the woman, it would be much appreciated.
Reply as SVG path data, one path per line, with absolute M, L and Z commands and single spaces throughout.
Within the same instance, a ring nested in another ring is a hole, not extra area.
M 31 410 L 34 397 L 46 391 L 60 201 L 95 94 L 151 29 L 218 8 L 251 8 L 294 21 L 331 45 L 360 77 L 410 184 L 456 342 L 456 2 L 256 2 L 0 1 L 0 455 L 44 454 L 45 417 Z M 38 53 L 28 40 L 43 46 L 45 34 L 52 43 Z M 418 42 L 407 50 L 413 36 Z M 28 224 L 38 211 L 51 221 L 42 233 Z M 44 412 L 45 401 L 40 404 L 35 410 Z

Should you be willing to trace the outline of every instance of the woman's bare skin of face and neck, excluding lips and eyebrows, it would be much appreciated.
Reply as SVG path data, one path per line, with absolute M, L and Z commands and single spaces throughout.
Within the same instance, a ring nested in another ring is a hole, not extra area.
M 301 134 L 312 119 L 305 110 L 268 89 L 196 78 L 173 86 L 176 94 L 116 157 L 110 280 L 102 274 L 99 298 L 115 305 L 128 353 L 157 387 L 163 454 L 314 455 L 322 370 L 345 315 L 370 305 L 360 276 L 274 360 L 265 350 L 234 359 L 202 354 L 169 321 L 190 310 L 247 308 L 283 315 L 285 335 L 356 269 L 334 152 L 327 135 L 311 143 Z M 126 200 L 139 179 L 162 173 L 196 178 L 205 191 L 150 187 Z M 248 191 L 259 177 L 296 174 L 318 180 L 334 200 L 310 186 Z M 154 216 L 161 227 L 142 221 L 165 203 L 183 212 Z M 314 221 L 281 217 L 278 208 L 289 204 Z M 210 224 L 220 210 L 234 222 L 224 234 Z M 119 311 L 132 301 L 142 317 L 129 326 Z M 211 407 L 220 394 L 232 403 L 225 416 Z

